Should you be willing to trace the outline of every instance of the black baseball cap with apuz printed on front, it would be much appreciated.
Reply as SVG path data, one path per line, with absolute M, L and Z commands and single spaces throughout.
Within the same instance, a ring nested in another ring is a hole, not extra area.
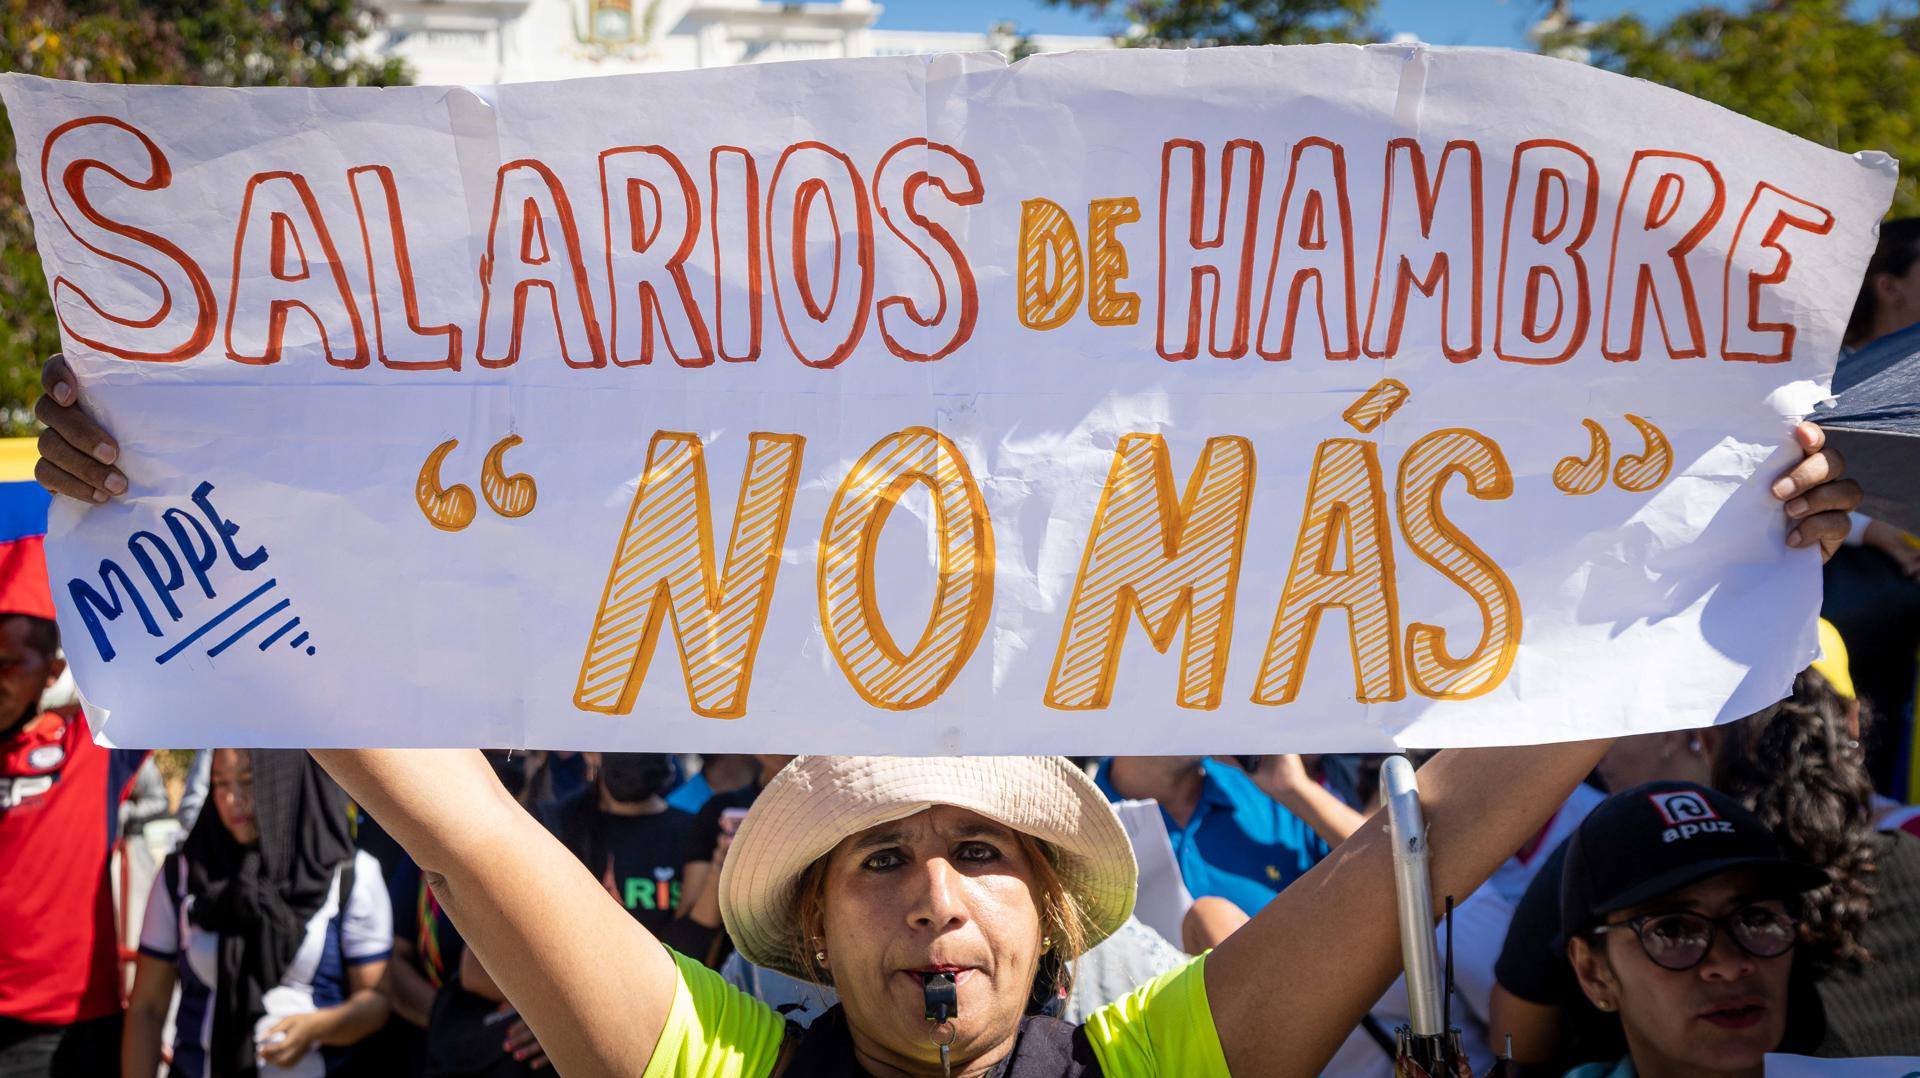
M 1745 805 L 1693 782 L 1647 782 L 1601 801 L 1567 840 L 1561 942 L 1609 913 L 1720 872 L 1749 869 L 1778 895 L 1811 892 L 1824 870 L 1780 855 L 1772 828 Z

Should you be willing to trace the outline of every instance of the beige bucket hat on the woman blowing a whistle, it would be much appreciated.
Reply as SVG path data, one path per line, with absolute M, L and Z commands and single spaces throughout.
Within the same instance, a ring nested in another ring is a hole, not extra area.
M 806 976 L 793 899 L 808 865 L 851 834 L 935 805 L 979 813 L 1060 857 L 1087 945 L 1133 915 L 1139 869 L 1119 817 L 1066 757 L 795 757 L 755 799 L 720 869 L 720 919 L 747 961 Z M 1066 955 L 1075 957 L 1075 955 Z

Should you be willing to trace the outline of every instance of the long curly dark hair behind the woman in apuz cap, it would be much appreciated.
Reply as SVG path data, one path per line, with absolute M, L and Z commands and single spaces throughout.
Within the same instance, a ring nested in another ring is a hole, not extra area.
M 1715 788 L 1774 828 L 1788 857 L 1834 878 L 1805 895 L 1801 920 L 1801 955 L 1820 968 L 1874 957 L 1860 945 L 1880 870 L 1874 784 L 1847 711 L 1824 676 L 1803 671 L 1793 696 L 1726 728 L 1713 765 Z

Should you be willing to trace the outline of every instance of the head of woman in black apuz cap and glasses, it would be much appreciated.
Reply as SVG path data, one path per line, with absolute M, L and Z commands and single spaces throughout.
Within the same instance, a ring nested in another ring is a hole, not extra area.
M 1561 884 L 1567 959 L 1628 1047 L 1569 1078 L 1763 1074 L 1793 1018 L 1797 899 L 1826 872 L 1782 857 L 1740 801 L 1647 782 L 1580 822 Z

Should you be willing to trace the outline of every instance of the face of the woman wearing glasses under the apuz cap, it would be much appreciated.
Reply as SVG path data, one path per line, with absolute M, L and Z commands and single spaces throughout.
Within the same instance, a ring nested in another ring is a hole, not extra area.
M 1753 876 L 1724 872 L 1607 920 L 1670 911 L 1718 919 L 1753 901 Z M 1759 1074 L 1763 1057 L 1786 1036 L 1793 951 L 1757 959 L 1716 924 L 1713 949 L 1697 967 L 1668 970 L 1647 957 L 1630 928 L 1599 942 L 1597 949 L 1588 940 L 1572 942 L 1574 970 L 1594 1005 L 1619 1011 L 1642 1074 Z

